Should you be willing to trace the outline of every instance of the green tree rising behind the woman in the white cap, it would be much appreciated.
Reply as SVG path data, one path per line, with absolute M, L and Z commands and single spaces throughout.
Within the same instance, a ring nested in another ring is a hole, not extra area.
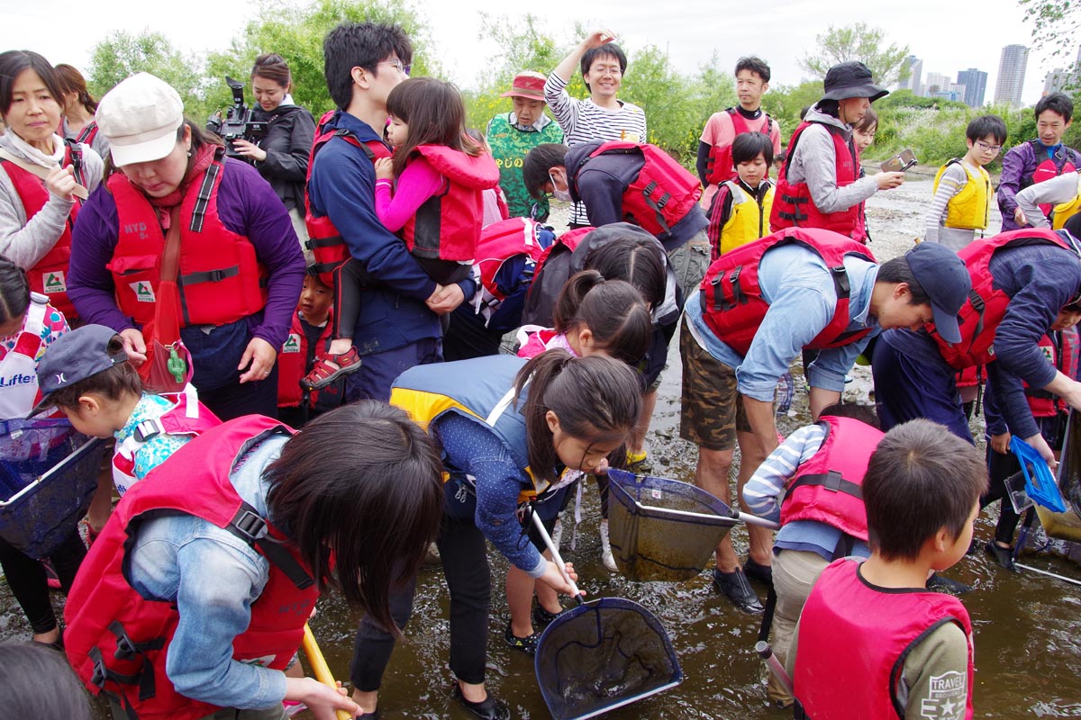
M 101 97 L 124 78 L 149 72 L 175 87 L 188 117 L 198 118 L 204 110 L 203 65 L 201 56 L 184 55 L 161 32 L 117 30 L 91 51 L 88 85 Z

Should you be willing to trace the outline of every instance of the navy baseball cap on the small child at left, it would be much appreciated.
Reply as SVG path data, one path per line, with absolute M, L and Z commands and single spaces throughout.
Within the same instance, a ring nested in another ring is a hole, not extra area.
M 38 389 L 41 402 L 34 407 L 34 417 L 53 407 L 50 395 L 70 388 L 114 365 L 128 362 L 123 350 L 109 353 L 109 341 L 117 331 L 104 325 L 83 325 L 57 338 L 38 362 Z

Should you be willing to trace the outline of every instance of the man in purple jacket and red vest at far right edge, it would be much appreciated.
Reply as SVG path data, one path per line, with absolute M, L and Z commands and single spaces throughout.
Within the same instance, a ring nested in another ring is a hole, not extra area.
M 1011 148 L 1002 158 L 998 198 L 1003 232 L 1033 225 L 1017 206 L 1019 191 L 1063 173 L 1081 169 L 1081 154 L 1063 144 L 1063 135 L 1073 121 L 1073 101 L 1063 93 L 1052 93 L 1040 98 L 1033 114 L 1037 137 Z M 1041 207 L 1044 216 L 1051 208 L 1051 205 Z

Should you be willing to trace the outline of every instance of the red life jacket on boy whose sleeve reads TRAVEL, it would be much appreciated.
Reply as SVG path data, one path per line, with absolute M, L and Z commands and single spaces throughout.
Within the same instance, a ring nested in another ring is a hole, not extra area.
M 947 671 L 932 678 L 936 692 L 924 716 L 960 717 L 963 706 L 963 717 L 971 719 L 972 623 L 964 606 L 943 593 L 872 589 L 856 575 L 858 565 L 836 560 L 823 570 L 803 606 L 792 684 L 805 717 L 904 718 L 905 707 L 896 697 L 905 658 L 931 630 L 955 623 L 969 639 L 969 669 L 965 676 Z

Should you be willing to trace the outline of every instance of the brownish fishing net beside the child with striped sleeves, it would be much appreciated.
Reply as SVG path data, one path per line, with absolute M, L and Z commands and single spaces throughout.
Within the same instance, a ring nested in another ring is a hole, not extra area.
M 736 524 L 728 505 L 688 483 L 622 470 L 609 479 L 612 555 L 629 580 L 698 575 Z

